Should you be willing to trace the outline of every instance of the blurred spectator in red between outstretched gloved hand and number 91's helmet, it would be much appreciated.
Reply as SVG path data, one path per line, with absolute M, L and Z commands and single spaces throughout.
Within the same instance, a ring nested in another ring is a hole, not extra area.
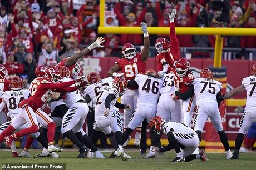
M 118 52 L 119 37 L 114 34 L 106 34 L 105 39 L 105 56 L 120 56 Z

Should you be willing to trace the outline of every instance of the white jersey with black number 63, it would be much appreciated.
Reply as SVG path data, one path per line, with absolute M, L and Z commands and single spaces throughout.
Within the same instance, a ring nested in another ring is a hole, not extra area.
M 160 90 L 160 94 L 170 94 L 175 92 L 175 75 L 174 73 L 164 74 L 164 77 L 162 78 L 163 86 Z

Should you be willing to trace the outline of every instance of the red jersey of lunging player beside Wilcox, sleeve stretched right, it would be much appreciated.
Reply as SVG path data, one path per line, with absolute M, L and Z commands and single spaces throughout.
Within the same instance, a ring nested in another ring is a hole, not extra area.
M 71 86 L 73 83 L 75 83 L 75 81 L 52 83 L 49 78 L 37 77 L 29 86 L 29 91 L 31 92 L 29 98 L 19 103 L 19 107 L 23 108 L 28 105 L 35 111 L 48 101 L 53 93 L 53 89 L 63 89 Z

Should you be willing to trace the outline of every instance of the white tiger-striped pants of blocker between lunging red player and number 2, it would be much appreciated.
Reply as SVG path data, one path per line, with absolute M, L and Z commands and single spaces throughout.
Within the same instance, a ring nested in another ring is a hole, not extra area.
M 62 119 L 61 133 L 63 134 L 71 130 L 74 133 L 80 132 L 88 112 L 89 107 L 87 103 L 77 102 L 72 104 Z

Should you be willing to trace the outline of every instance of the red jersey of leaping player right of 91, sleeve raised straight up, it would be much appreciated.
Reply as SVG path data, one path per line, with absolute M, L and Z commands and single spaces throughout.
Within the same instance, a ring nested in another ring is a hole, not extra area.
M 157 54 L 156 72 L 163 71 L 163 64 L 161 63 L 163 59 L 170 65 L 167 73 L 170 73 L 171 68 L 174 67 L 174 61 L 180 59 L 180 46 L 176 37 L 174 22 L 170 23 L 170 52 Z

